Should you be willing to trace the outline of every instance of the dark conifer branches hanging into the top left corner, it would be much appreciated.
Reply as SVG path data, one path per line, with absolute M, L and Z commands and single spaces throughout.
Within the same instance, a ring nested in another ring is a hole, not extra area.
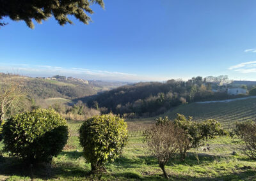
M 88 24 L 92 14 L 92 4 L 104 8 L 102 0 L 0 0 L 0 20 L 10 17 L 12 20 L 24 20 L 28 27 L 34 27 L 32 20 L 41 23 L 52 15 L 60 25 L 72 24 L 68 15 L 74 15 L 84 24 Z M 87 14 L 86 14 L 87 13 Z M 0 22 L 0 25 L 6 25 Z

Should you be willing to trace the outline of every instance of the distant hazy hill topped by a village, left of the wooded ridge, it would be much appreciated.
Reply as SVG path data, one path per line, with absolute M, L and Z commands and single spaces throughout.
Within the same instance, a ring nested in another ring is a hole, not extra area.
M 0 74 L 1 83 L 17 82 L 24 86 L 28 95 L 35 99 L 47 99 L 47 98 L 64 98 L 64 99 L 76 99 L 85 96 L 92 96 L 100 91 L 106 91 L 124 85 L 125 83 L 104 82 L 102 84 L 99 81 L 87 81 L 87 83 L 74 80 L 56 79 L 56 78 L 32 78 L 28 76 Z

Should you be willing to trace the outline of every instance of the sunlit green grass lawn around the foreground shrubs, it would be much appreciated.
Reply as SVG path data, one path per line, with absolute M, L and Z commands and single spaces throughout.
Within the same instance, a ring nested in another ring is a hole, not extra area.
M 141 130 L 147 124 L 141 122 L 128 122 L 129 143 L 119 159 L 106 165 L 108 172 L 90 175 L 90 164 L 84 160 L 79 146 L 77 130 L 81 123 L 68 122 L 68 143 L 51 164 L 30 168 L 3 154 L 0 180 L 164 180 L 157 160 L 143 144 Z M 140 129 L 134 129 L 136 124 Z M 170 161 L 166 166 L 170 180 L 256 180 L 256 162 L 243 155 L 243 141 L 221 137 L 207 144 L 210 150 L 205 152 L 204 147 L 190 150 L 184 163 L 179 156 Z M 233 155 L 233 151 L 237 154 Z

